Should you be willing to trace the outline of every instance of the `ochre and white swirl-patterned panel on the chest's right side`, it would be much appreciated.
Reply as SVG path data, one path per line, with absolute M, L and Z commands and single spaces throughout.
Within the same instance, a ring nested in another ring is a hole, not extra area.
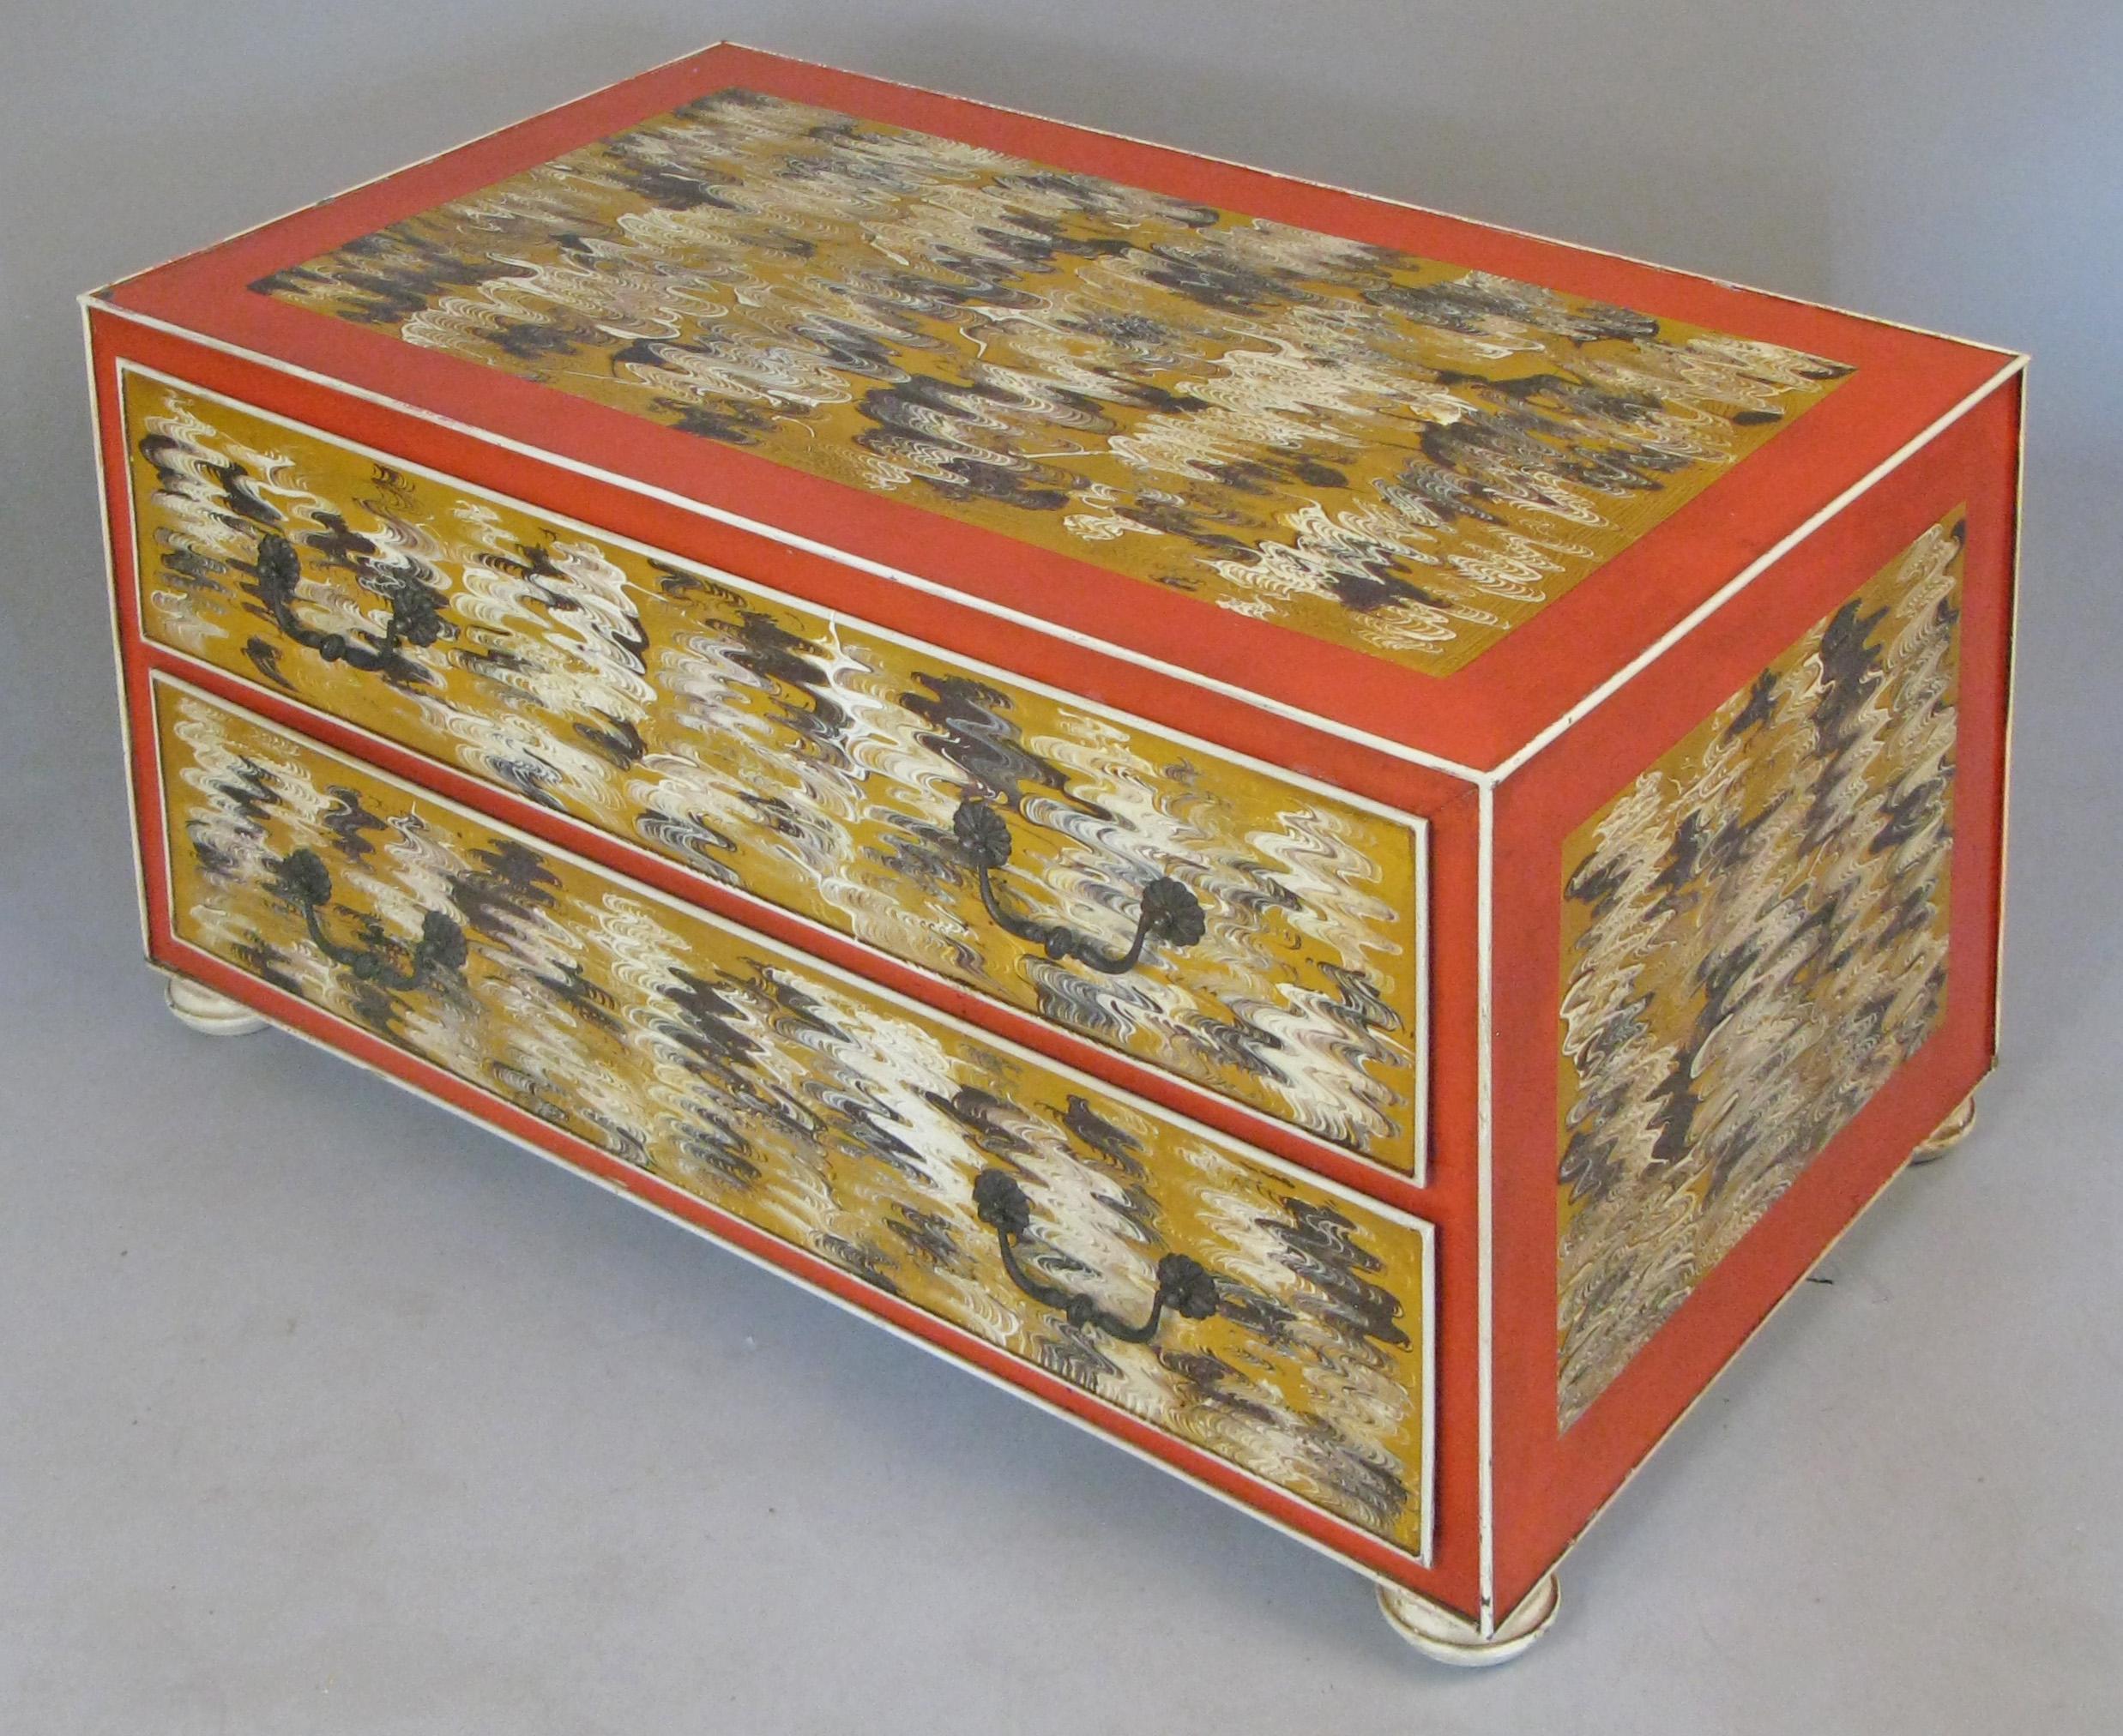
M 1936 1029 L 1964 518 L 1565 845 L 1569 1428 Z

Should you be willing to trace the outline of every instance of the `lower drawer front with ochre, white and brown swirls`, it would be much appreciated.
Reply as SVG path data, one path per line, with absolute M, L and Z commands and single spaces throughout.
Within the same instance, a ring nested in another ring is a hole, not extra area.
M 157 679 L 180 940 L 1420 1556 L 1425 1225 Z

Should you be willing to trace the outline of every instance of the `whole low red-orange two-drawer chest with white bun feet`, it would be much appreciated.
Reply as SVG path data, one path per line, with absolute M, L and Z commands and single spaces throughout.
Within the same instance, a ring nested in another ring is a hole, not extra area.
M 728 45 L 85 312 L 180 1017 L 1433 1655 L 1993 1061 L 2013 352 Z

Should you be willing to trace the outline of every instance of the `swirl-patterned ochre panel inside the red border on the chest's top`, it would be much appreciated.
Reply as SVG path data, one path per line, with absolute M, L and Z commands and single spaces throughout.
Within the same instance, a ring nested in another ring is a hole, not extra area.
M 1851 371 L 743 87 L 253 289 L 1427 675 Z

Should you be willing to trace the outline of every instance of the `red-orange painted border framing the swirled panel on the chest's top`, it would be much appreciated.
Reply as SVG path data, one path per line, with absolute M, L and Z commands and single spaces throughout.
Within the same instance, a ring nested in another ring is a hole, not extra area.
M 248 289 L 274 270 L 664 112 L 692 96 L 739 83 L 1176 197 L 1790 344 L 1851 363 L 1858 371 L 1722 482 L 1501 645 L 1454 675 L 1429 677 L 478 363 L 420 350 L 380 331 L 289 308 Z M 1703 598 L 1796 524 L 1830 505 L 1856 478 L 1900 450 L 2004 363 L 2000 352 L 1972 344 L 730 45 L 645 72 L 130 278 L 104 291 L 102 299 L 110 308 L 149 314 L 429 416 L 448 416 L 571 463 L 737 511 L 779 533 L 826 541 L 856 558 L 949 586 L 968 598 L 1032 607 L 1068 632 L 1159 658 L 1329 724 L 1478 770 L 1503 764 L 1556 715 L 1664 637 Z M 522 461 L 514 463 L 522 469 Z M 510 492 L 529 490 L 518 484 Z M 635 497 L 628 518 L 652 514 L 669 516 L 671 509 Z M 650 537 L 614 522 L 609 514 L 594 522 L 611 522 L 624 535 L 660 541 L 681 554 L 692 554 L 686 543 L 707 541 L 711 535 L 724 543 L 743 537 L 754 552 L 726 554 L 718 565 L 743 575 L 775 565 L 781 569 L 775 579 L 779 588 L 815 603 L 830 603 L 828 592 L 847 581 L 849 569 L 841 562 L 773 545 L 730 526 L 703 522 L 684 541 L 673 541 L 671 535 Z M 907 620 L 900 618 L 902 611 L 873 618 L 881 626 L 921 632 L 911 618 L 926 613 L 930 605 L 917 603 L 904 586 L 890 588 L 902 598 Z M 1121 709 L 1142 711 L 1123 692 L 1149 679 L 1140 664 L 1112 664 L 1104 675 L 1108 688 L 1085 692 Z M 1197 702 L 1208 702 L 1199 690 Z M 1216 702 L 1233 705 L 1229 698 Z

